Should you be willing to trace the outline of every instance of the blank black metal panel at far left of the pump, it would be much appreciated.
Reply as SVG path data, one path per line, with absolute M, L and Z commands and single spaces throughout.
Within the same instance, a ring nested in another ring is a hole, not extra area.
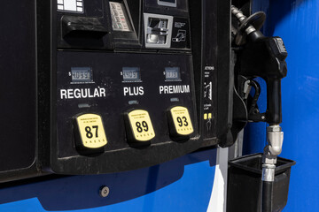
M 35 1 L 3 1 L 0 19 L 0 178 L 9 180 L 23 178 L 12 170 L 35 173 Z

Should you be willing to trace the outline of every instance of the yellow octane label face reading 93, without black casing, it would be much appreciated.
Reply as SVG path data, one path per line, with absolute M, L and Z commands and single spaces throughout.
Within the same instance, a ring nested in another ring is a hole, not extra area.
M 187 108 L 184 107 L 174 107 L 170 110 L 172 115 L 176 132 L 180 135 L 190 135 L 194 132 L 193 126 L 191 124 L 190 113 Z

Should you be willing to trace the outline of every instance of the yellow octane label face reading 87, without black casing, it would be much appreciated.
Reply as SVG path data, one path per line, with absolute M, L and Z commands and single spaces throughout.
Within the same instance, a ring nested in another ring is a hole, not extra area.
M 84 114 L 76 118 L 82 145 L 85 148 L 102 148 L 106 145 L 105 129 L 102 117 L 96 114 Z

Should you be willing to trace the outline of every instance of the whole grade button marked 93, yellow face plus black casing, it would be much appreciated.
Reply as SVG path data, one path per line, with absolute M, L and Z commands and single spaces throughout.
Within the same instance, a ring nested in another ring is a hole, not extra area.
M 177 140 L 188 139 L 194 132 L 189 110 L 182 106 L 168 110 L 168 125 L 171 137 Z

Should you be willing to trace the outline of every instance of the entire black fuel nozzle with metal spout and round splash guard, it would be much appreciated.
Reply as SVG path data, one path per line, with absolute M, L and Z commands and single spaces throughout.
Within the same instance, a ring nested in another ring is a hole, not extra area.
M 237 71 L 247 79 L 261 77 L 267 83 L 267 111 L 260 117 L 248 116 L 251 121 L 266 121 L 269 125 L 282 122 L 281 79 L 287 74 L 284 61 L 287 51 L 280 37 L 266 37 L 260 29 L 266 19 L 264 12 L 256 12 L 249 18 L 231 7 L 231 12 L 239 21 L 235 42 L 243 49 L 238 52 Z

